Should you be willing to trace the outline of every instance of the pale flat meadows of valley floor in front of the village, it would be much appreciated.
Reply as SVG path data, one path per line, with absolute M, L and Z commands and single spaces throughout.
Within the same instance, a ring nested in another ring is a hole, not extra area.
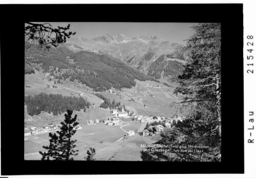
M 123 124 L 124 125 L 124 124 Z M 75 160 L 83 160 L 86 157 L 89 147 L 96 150 L 95 159 L 98 161 L 142 161 L 140 158 L 141 144 L 152 144 L 153 137 L 143 137 L 138 134 L 127 139 L 122 137 L 127 131 L 136 130 L 141 125 L 140 122 L 129 122 L 123 126 L 104 125 L 84 125 L 83 129 L 77 130 L 73 139 L 76 139 L 76 149 L 79 150 Z M 126 132 L 125 132 L 126 131 Z M 39 151 L 46 151 L 43 145 L 49 145 L 49 133 L 26 136 L 24 142 L 24 159 L 40 160 Z

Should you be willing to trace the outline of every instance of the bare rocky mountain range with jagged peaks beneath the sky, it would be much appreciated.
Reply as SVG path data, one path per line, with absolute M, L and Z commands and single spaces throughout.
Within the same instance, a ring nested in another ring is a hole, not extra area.
M 109 54 L 112 57 L 124 61 L 126 64 L 142 73 L 149 75 L 152 75 L 152 70 L 155 69 L 157 73 L 160 72 L 159 70 L 161 68 L 161 72 L 164 72 L 165 67 L 153 68 L 155 65 L 152 65 L 160 56 L 165 56 L 165 66 L 172 65 L 173 61 L 181 64 L 186 63 L 188 58 L 187 52 L 182 51 L 183 45 L 163 41 L 156 36 L 142 35 L 135 38 L 128 38 L 123 34 L 116 36 L 105 34 L 90 40 L 74 37 L 69 39 L 66 45 L 74 52 L 89 50 L 98 54 Z M 161 76 L 166 77 L 167 75 L 162 74 Z M 168 77 L 172 78 L 173 76 L 168 75 Z

